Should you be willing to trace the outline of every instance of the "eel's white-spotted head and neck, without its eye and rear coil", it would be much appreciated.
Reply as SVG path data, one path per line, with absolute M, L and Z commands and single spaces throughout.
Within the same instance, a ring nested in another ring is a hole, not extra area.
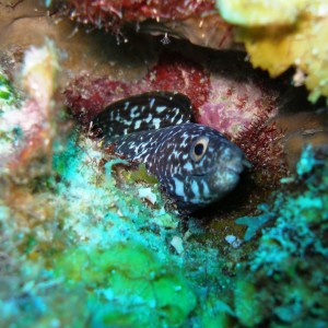
M 209 140 L 200 161 L 191 155 L 195 141 Z M 121 137 L 115 152 L 144 163 L 179 208 L 194 211 L 221 199 L 237 184 L 244 154 L 209 127 L 183 124 Z

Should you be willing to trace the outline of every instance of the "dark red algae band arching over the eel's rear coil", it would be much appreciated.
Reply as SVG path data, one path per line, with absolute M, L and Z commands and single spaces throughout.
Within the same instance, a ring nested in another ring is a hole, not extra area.
M 72 114 L 89 127 L 93 117 L 107 105 L 131 95 L 151 91 L 175 91 L 190 97 L 197 108 L 208 99 L 209 89 L 209 74 L 200 65 L 178 55 L 163 55 L 159 63 L 139 81 L 128 83 L 82 74 L 68 85 L 65 95 Z

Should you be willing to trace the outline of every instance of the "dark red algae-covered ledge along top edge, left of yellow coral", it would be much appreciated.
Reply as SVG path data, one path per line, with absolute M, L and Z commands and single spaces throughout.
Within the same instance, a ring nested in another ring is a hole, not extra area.
M 214 0 L 69 0 L 60 11 L 92 30 L 117 36 L 122 36 L 129 26 L 137 33 L 163 34 L 163 43 L 169 43 L 168 34 L 214 49 L 241 47 L 234 42 L 233 26 L 220 16 Z

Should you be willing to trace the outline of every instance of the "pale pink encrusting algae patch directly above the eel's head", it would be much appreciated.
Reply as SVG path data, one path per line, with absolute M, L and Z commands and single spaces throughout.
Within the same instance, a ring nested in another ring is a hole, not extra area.
M 245 83 L 212 74 L 209 101 L 199 107 L 199 122 L 236 138 L 263 115 L 278 114 L 277 96 L 250 79 Z

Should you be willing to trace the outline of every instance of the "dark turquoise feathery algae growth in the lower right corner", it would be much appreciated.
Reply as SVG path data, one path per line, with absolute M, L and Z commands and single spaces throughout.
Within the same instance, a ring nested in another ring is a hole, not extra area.
M 235 312 L 246 327 L 267 320 L 272 327 L 325 327 L 328 321 L 328 160 L 315 160 L 306 147 L 297 173 L 290 190 L 277 192 L 259 216 L 239 222 L 250 229 L 251 219 L 274 222 L 262 229 L 258 248 L 237 273 Z

